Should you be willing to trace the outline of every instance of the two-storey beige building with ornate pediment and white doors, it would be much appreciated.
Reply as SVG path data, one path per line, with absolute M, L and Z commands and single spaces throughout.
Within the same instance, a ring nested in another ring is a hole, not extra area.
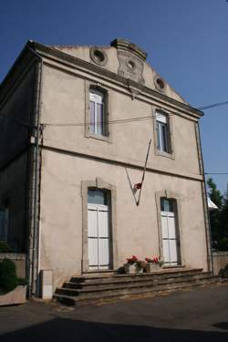
M 31 294 L 42 270 L 55 289 L 132 254 L 211 271 L 202 112 L 146 57 L 28 41 L 1 84 L 0 239 L 26 253 Z

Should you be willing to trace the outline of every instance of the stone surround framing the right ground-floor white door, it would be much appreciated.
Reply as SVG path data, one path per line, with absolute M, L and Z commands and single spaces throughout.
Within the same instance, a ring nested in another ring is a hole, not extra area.
M 158 231 L 159 231 L 159 252 L 161 256 L 161 260 L 163 259 L 163 245 L 162 245 L 162 233 L 161 233 L 161 198 L 166 198 L 167 200 L 175 201 L 174 212 L 175 212 L 175 224 L 176 224 L 176 233 L 178 237 L 179 244 L 177 246 L 178 252 L 178 265 L 184 265 L 184 253 L 183 253 L 183 244 L 182 244 L 182 216 L 181 216 L 181 198 L 180 195 L 176 192 L 171 191 L 162 191 L 155 192 L 155 200 L 157 206 L 157 216 L 158 216 Z M 169 267 L 169 266 L 166 266 Z M 171 267 L 171 266 L 170 266 Z

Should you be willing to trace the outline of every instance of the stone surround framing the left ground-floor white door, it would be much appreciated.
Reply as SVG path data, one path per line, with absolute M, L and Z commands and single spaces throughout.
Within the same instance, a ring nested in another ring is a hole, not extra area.
M 82 196 L 82 273 L 88 271 L 88 188 L 110 192 L 110 265 L 111 269 L 118 268 L 118 246 L 117 246 L 117 192 L 116 187 L 101 178 L 95 181 L 81 181 Z M 98 272 L 104 272 L 98 270 Z

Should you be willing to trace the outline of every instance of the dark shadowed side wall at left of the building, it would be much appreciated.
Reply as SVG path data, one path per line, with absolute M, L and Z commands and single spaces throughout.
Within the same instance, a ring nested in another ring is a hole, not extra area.
M 6 201 L 9 207 L 7 242 L 16 252 L 27 250 L 28 156 L 35 86 L 36 64 L 26 55 L 0 93 L 0 205 Z

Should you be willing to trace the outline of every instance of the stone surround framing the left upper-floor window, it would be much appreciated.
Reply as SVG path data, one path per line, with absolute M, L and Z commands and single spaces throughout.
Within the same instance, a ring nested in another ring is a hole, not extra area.
M 107 121 L 106 124 L 106 134 L 107 135 L 98 135 L 93 132 L 89 131 L 89 122 L 90 122 L 90 112 L 89 112 L 89 90 L 98 90 L 104 94 L 104 113 L 105 119 Z M 86 138 L 93 138 L 96 140 L 102 140 L 106 142 L 111 142 L 111 131 L 109 121 L 111 120 L 110 113 L 109 113 L 109 91 L 107 88 L 102 88 L 99 83 L 89 82 L 88 80 L 85 81 L 85 137 Z

